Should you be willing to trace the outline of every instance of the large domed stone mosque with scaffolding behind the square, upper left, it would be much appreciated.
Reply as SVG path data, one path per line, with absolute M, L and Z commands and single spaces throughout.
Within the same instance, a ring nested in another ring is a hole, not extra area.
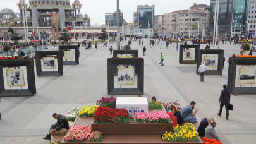
M 58 15 L 59 27 L 66 27 L 73 22 L 75 25 L 90 26 L 90 18 L 88 16 L 83 18 L 83 15 L 79 13 L 82 4 L 78 0 L 75 0 L 72 5 L 70 0 L 29 0 L 25 7 L 22 6 L 20 0 L 17 6 L 20 13 L 15 13 L 13 17 L 6 17 L 4 20 L 0 18 L 0 23 L 3 21 L 7 24 L 14 23 L 14 27 L 23 25 L 23 11 L 26 8 L 25 15 L 27 15 L 28 27 L 52 27 L 51 13 Z

